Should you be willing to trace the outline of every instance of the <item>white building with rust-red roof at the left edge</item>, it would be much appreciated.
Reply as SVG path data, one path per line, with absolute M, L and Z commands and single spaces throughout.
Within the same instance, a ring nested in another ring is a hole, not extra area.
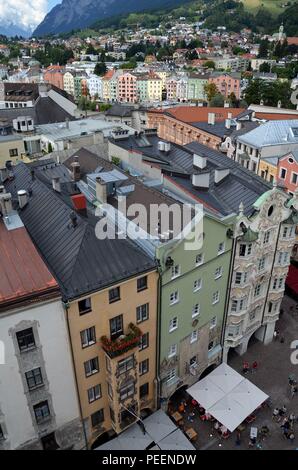
M 1 196 L 0 449 L 83 449 L 59 287 L 9 195 Z M 20 194 L 20 204 L 27 197 Z

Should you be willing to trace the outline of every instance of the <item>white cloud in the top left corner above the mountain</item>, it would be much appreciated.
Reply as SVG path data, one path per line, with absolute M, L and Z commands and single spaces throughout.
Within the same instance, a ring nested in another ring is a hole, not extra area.
M 1 0 L 0 23 L 33 30 L 47 13 L 47 0 Z

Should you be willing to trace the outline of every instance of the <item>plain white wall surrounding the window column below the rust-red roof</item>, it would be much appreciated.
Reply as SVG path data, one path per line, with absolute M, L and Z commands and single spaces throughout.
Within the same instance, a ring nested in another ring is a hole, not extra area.
M 66 321 L 60 300 L 36 305 L 14 314 L 0 314 L 0 340 L 5 345 L 5 365 L 0 365 L 0 411 L 11 448 L 37 438 L 24 393 L 9 329 L 22 321 L 37 321 L 49 393 L 57 428 L 79 417 Z M 26 354 L 26 353 L 25 353 Z M 35 366 L 34 366 L 35 367 Z

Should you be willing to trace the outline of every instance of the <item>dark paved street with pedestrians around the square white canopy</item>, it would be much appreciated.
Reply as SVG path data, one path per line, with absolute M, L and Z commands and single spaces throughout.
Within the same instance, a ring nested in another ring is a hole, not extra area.
M 229 357 L 229 365 L 240 373 L 242 373 L 242 364 L 244 361 L 250 364 L 253 361 L 258 362 L 258 370 L 255 373 L 246 374 L 246 378 L 269 395 L 270 406 L 257 411 L 256 420 L 252 424 L 245 425 L 245 430 L 241 433 L 241 444 L 239 446 L 237 446 L 235 442 L 235 431 L 228 439 L 222 439 L 213 429 L 213 423 L 201 422 L 198 417 L 195 417 L 194 422 L 189 422 L 187 419 L 189 410 L 187 410 L 184 419 L 185 427 L 193 427 L 196 430 L 198 434 L 198 438 L 194 442 L 196 448 L 200 450 L 294 450 L 298 448 L 297 422 L 294 426 L 295 440 L 291 443 L 282 435 L 280 428 L 281 423 L 276 423 L 272 420 L 273 408 L 280 408 L 283 405 L 287 408 L 287 415 L 291 412 L 296 416 L 298 415 L 298 397 L 295 396 L 291 398 L 288 385 L 288 377 L 290 374 L 298 378 L 298 365 L 293 365 L 290 361 L 292 353 L 290 347 L 291 342 L 298 339 L 298 312 L 296 313 L 295 305 L 295 301 L 289 297 L 285 297 L 282 304 L 284 312 L 277 324 L 277 329 L 280 332 L 279 339 L 267 346 L 252 339 L 248 351 L 243 356 L 238 356 L 236 353 L 232 352 Z M 293 312 L 290 312 L 291 306 L 294 306 Z M 282 337 L 284 338 L 284 342 L 280 342 L 280 338 Z M 248 443 L 251 426 L 260 429 L 264 425 L 267 425 L 270 430 L 269 436 L 262 441 L 258 440 L 258 445 L 250 448 Z

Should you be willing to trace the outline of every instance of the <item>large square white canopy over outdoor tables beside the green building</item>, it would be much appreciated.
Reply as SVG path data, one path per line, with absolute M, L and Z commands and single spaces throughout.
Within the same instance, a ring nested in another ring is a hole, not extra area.
M 187 393 L 231 432 L 268 398 L 225 363 L 189 387 Z

